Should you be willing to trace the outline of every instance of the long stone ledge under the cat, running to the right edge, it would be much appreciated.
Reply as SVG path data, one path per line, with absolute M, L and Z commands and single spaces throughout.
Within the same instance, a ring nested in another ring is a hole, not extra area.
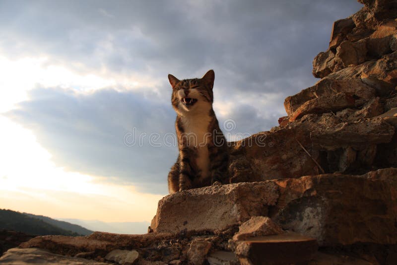
M 211 186 L 160 200 L 151 228 L 213 233 L 263 215 L 321 246 L 396 244 L 396 193 L 394 168 L 362 176 L 324 174 Z

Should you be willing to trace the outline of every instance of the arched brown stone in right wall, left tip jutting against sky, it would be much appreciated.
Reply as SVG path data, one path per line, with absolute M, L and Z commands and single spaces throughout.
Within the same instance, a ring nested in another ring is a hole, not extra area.
M 363 83 L 361 79 L 325 78 L 314 86 L 306 88 L 296 95 L 287 97 L 284 101 L 285 111 L 291 116 L 307 101 L 317 98 L 329 97 L 340 92 L 357 96 L 359 99 L 369 100 L 375 97 L 375 89 Z

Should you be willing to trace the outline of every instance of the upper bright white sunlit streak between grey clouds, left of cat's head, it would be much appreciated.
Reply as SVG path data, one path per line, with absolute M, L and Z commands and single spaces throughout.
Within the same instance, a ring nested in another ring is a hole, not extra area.
M 50 64 L 47 57 L 11 61 L 0 56 L 0 73 L 0 113 L 12 109 L 20 101 L 27 100 L 27 91 L 36 86 L 73 88 L 78 93 L 91 93 L 108 87 L 122 91 L 156 86 L 156 83 L 145 76 L 106 72 L 80 74 L 66 66 Z

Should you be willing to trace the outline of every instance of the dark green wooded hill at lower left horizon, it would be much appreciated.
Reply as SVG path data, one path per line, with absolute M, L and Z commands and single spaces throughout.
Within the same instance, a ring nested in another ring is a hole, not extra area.
M 24 213 L 6 209 L 0 209 L 0 229 L 18 231 L 31 235 L 81 235 Z

